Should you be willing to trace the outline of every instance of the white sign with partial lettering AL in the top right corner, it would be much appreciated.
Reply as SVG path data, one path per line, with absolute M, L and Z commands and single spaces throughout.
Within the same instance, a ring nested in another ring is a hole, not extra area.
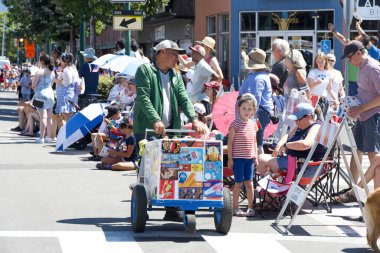
M 380 19 L 380 2 L 375 0 L 355 0 L 354 13 L 357 19 L 379 20 Z

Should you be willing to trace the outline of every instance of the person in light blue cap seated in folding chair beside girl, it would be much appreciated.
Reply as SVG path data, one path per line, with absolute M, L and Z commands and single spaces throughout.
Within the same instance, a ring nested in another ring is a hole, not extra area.
M 305 159 L 315 143 L 320 124 L 315 122 L 314 108 L 308 103 L 300 103 L 296 106 L 295 113 L 289 117 L 296 121 L 297 126 L 280 139 L 272 155 L 259 156 L 257 171 L 261 176 L 266 174 L 268 169 L 271 173 L 277 173 L 279 169 L 287 170 L 288 157 L 286 155 Z M 326 151 L 326 147 L 318 144 L 311 160 L 322 160 Z M 309 167 L 303 176 L 313 177 L 317 168 L 318 166 Z

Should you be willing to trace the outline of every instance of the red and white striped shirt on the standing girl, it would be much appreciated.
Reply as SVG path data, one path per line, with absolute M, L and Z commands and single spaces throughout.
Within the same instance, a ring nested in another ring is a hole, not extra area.
M 232 158 L 256 158 L 256 122 L 249 120 L 247 122 L 235 119 L 230 129 L 235 130 L 235 137 L 232 143 Z

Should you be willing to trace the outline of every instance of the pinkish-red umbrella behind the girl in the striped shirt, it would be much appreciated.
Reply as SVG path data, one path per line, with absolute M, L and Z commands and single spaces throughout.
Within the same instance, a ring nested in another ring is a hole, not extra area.
M 238 95 L 238 91 L 226 93 L 216 101 L 212 110 L 212 120 L 224 135 L 228 134 L 230 124 L 236 118 L 235 105 Z

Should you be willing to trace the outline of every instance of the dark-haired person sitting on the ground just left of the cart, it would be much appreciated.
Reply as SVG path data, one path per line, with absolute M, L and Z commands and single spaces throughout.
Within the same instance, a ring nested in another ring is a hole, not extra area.
M 137 154 L 136 138 L 132 134 L 133 125 L 129 122 L 120 123 L 120 131 L 124 134 L 124 147 L 121 151 L 108 150 L 109 157 L 103 157 L 102 163 L 98 163 L 98 169 L 134 170 L 135 163 L 139 159 Z

